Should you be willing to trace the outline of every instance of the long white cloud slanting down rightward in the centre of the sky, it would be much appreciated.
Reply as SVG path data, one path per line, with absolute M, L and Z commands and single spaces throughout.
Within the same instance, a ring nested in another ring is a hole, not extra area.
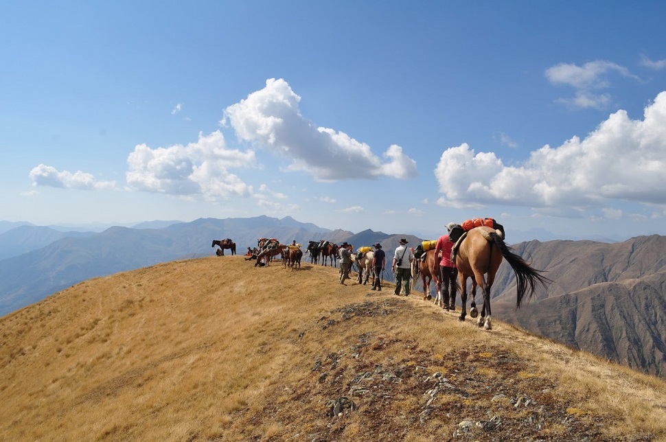
M 397 145 L 383 157 L 345 132 L 318 127 L 299 111 L 301 97 L 282 79 L 266 80 L 266 87 L 225 110 L 236 135 L 291 161 L 289 171 L 303 171 L 320 181 L 345 178 L 411 178 L 416 162 Z

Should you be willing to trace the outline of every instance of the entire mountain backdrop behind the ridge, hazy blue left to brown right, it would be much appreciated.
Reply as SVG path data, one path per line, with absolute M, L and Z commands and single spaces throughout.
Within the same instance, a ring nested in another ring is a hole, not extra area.
M 212 240 L 227 237 L 241 255 L 260 237 L 296 240 L 303 248 L 310 240 L 347 241 L 355 249 L 380 242 L 389 262 L 400 237 L 410 246 L 434 239 L 322 229 L 290 217 L 267 216 L 148 222 L 102 232 L 23 223 L 0 233 L 0 316 L 93 277 L 214 255 Z M 492 287 L 496 319 L 649 373 L 666 373 L 666 237 L 617 243 L 533 240 L 512 247 L 553 283 L 538 288 L 531 302 L 516 310 L 516 281 L 504 262 Z M 393 275 L 387 272 L 384 279 L 393 281 Z M 476 301 L 480 306 L 480 294 Z

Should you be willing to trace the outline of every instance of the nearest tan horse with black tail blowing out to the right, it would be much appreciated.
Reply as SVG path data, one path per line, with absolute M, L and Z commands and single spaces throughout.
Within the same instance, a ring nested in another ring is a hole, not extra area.
M 533 296 L 536 283 L 541 283 L 544 287 L 552 282 L 542 274 L 543 270 L 536 270 L 529 266 L 525 259 L 513 253 L 512 249 L 505 244 L 503 234 L 492 227 L 475 227 L 467 232 L 457 249 L 455 263 L 458 268 L 458 278 L 460 283 L 460 294 L 463 309 L 459 320 L 465 321 L 466 302 L 467 302 L 467 279 L 472 278 L 472 309 L 476 308 L 474 296 L 476 295 L 476 286 L 483 292 L 483 307 L 481 307 L 481 316 L 477 321 L 479 327 L 486 330 L 492 329 L 490 314 L 490 288 L 495 280 L 495 274 L 502 259 L 506 259 L 509 266 L 516 275 L 516 308 L 520 307 L 523 298 L 527 295 L 527 300 Z M 487 279 L 483 275 L 487 274 Z M 529 290 L 528 290 L 529 289 Z M 474 315 L 470 311 L 472 317 Z

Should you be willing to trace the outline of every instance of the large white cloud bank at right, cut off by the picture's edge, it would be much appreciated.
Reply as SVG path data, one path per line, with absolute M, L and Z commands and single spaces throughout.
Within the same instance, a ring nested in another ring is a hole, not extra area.
M 666 204 L 666 92 L 644 119 L 619 110 L 586 138 L 531 152 L 522 165 L 505 165 L 493 152 L 467 144 L 441 154 L 435 177 L 450 207 L 515 205 L 536 209 L 604 207 L 611 200 Z

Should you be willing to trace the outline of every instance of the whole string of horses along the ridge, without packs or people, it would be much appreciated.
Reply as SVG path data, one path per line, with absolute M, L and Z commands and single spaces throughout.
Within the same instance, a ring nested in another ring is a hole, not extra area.
M 257 264 L 261 259 L 266 258 L 266 265 L 271 257 L 282 255 L 284 267 L 289 266 L 292 270 L 300 267 L 301 257 L 303 252 L 299 247 L 286 246 L 284 244 L 277 244 L 277 246 L 266 246 L 266 243 L 261 244 L 261 252 L 257 255 Z M 230 240 L 225 242 L 214 241 L 213 246 L 220 246 L 222 255 L 224 255 L 224 248 L 231 248 L 232 255 L 236 253 L 236 244 Z M 310 241 L 306 249 L 310 253 L 310 262 L 317 264 L 321 256 L 322 265 L 325 266 L 328 258 L 331 259 L 331 266 L 336 265 L 336 255 L 338 246 L 328 241 Z M 365 251 L 358 253 L 354 259 L 354 263 L 358 268 L 358 283 L 367 283 L 370 276 L 373 278 L 372 272 L 372 259 L 374 253 L 372 251 Z M 437 294 L 435 303 L 442 307 L 453 307 L 455 310 L 455 292 L 459 291 L 461 294 L 461 314 L 460 321 L 465 321 L 467 316 L 467 280 L 472 279 L 472 288 L 470 290 L 470 316 L 476 318 L 479 316 L 476 310 L 476 288 L 480 288 L 483 294 L 483 305 L 481 307 L 481 315 L 477 320 L 477 325 L 486 330 L 492 329 L 491 323 L 491 310 L 490 310 L 490 289 L 495 281 L 497 270 L 506 260 L 516 276 L 516 307 L 520 307 L 523 299 L 531 298 L 536 290 L 538 283 L 546 286 L 551 282 L 550 279 L 542 275 L 542 270 L 532 268 L 523 257 L 516 255 L 512 249 L 504 242 L 503 230 L 494 229 L 490 226 L 478 226 L 466 231 L 455 246 L 455 265 L 458 270 L 458 285 L 459 290 L 452 288 L 451 292 L 454 294 L 450 299 L 450 305 L 443 305 L 441 282 L 439 281 L 439 257 L 435 256 L 435 249 L 426 251 L 420 259 L 414 259 L 412 263 L 412 284 L 415 283 L 417 277 L 420 277 L 423 283 L 424 299 L 432 299 L 430 296 L 430 282 L 435 282 Z M 255 266 L 257 266 L 255 264 Z

